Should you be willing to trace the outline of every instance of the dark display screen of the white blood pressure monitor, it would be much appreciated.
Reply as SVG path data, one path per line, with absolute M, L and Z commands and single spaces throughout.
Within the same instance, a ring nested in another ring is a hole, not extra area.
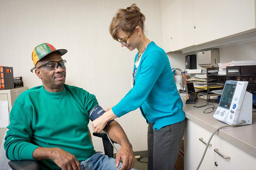
M 229 109 L 235 91 L 235 87 L 236 84 L 226 84 L 225 89 L 223 90 L 221 96 L 220 106 Z

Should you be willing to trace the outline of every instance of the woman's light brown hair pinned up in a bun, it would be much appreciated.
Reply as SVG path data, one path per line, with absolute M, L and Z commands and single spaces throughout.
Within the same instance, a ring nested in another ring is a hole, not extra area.
M 109 32 L 114 40 L 118 40 L 119 31 L 132 33 L 137 26 L 144 30 L 145 15 L 140 12 L 140 8 L 136 4 L 132 4 L 126 9 L 119 9 L 113 17 Z

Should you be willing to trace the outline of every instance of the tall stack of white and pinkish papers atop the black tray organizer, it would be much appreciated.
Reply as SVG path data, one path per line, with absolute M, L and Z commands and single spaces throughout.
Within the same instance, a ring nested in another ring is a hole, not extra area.
M 240 65 L 256 65 L 256 61 L 231 61 L 229 63 L 218 63 L 218 75 L 226 75 L 226 67 L 240 66 Z M 231 72 L 238 72 L 238 69 L 230 70 Z

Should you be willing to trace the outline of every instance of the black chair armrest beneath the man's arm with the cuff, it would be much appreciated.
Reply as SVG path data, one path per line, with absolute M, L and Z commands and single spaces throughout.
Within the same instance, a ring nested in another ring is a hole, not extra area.
M 108 157 L 113 158 L 114 148 L 113 148 L 112 144 L 110 143 L 110 141 L 108 140 L 108 136 L 107 136 L 106 132 L 104 132 L 104 131 L 101 131 L 99 133 L 93 132 L 92 134 L 93 134 L 93 136 L 97 136 L 99 138 L 102 138 L 102 143 L 103 143 L 105 155 L 108 155 Z M 111 141 L 113 143 L 116 143 L 113 140 L 111 140 Z

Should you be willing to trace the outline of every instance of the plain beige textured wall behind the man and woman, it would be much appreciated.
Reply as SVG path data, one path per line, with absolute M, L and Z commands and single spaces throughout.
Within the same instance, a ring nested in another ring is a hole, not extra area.
M 48 42 L 68 53 L 69 85 L 79 86 L 96 95 L 107 108 L 130 89 L 130 76 L 136 50 L 130 52 L 114 41 L 108 27 L 114 13 L 136 3 L 146 16 L 145 32 L 162 46 L 160 1 L 9 1 L 0 0 L 0 65 L 13 67 L 14 77 L 22 76 L 28 88 L 41 85 L 30 72 L 34 46 Z M 147 150 L 147 125 L 139 110 L 117 119 L 135 151 Z M 91 123 L 89 124 L 92 131 Z M 101 139 L 93 137 L 97 151 Z

